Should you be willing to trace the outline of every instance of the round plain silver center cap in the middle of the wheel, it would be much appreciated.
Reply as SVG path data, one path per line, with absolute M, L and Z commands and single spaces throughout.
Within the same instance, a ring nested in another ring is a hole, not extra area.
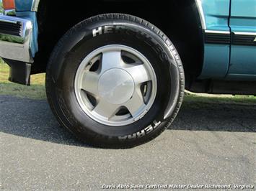
M 98 83 L 100 96 L 112 104 L 125 103 L 131 99 L 134 91 L 134 82 L 131 75 L 125 70 L 113 68 L 100 76 Z

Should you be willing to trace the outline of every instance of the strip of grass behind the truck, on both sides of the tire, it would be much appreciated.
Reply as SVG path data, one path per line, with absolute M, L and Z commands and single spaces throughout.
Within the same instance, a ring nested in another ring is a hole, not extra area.
M 10 83 L 9 66 L 0 58 L 0 95 L 14 95 L 22 98 L 45 99 L 45 74 L 31 76 L 31 86 Z M 193 106 L 200 107 L 201 103 L 242 103 L 256 104 L 256 97 L 253 95 L 207 95 L 185 93 L 184 105 L 193 103 Z

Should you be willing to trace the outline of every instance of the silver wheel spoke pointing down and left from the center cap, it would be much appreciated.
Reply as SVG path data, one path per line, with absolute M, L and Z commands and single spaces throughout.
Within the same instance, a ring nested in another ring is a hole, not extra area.
M 119 108 L 120 106 L 108 103 L 104 99 L 101 99 L 97 106 L 92 110 L 92 113 L 110 119 L 112 116 L 115 116 L 115 113 L 118 112 Z

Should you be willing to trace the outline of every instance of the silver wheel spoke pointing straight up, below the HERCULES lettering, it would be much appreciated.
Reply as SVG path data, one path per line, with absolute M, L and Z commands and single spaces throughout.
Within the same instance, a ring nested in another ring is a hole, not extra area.
M 121 51 L 115 50 L 102 53 L 101 73 L 110 68 L 120 67 L 122 62 Z

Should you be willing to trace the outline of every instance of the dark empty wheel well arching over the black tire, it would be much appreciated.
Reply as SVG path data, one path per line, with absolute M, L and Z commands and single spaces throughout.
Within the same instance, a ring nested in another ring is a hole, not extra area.
M 196 78 L 203 63 L 203 32 L 195 0 L 94 0 L 64 3 L 41 0 L 37 12 L 39 52 L 32 73 L 43 73 L 58 39 L 74 24 L 97 14 L 120 12 L 148 20 L 171 39 L 182 58 L 187 80 Z

